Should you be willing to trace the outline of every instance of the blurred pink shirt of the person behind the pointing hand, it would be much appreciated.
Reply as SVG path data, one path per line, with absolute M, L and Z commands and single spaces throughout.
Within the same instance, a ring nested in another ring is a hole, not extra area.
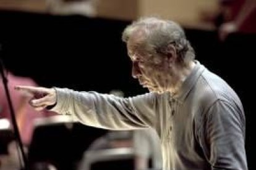
M 37 84 L 35 81 L 33 81 L 32 78 L 15 76 L 8 70 L 5 70 L 5 73 L 7 76 L 7 87 L 11 95 L 11 101 L 14 107 L 15 118 L 19 128 L 20 137 L 23 144 L 29 145 L 33 132 L 33 119 L 41 115 L 35 114 L 36 111 L 33 110 L 30 105 L 28 105 L 28 97 L 26 95 L 29 94 L 17 94 L 17 92 L 14 91 L 14 86 L 17 86 L 17 84 L 23 84 L 25 86 L 37 86 Z M 2 82 L 0 83 L 0 94 L 0 118 L 7 118 L 12 123 L 10 113 L 11 111 L 7 103 L 6 92 Z

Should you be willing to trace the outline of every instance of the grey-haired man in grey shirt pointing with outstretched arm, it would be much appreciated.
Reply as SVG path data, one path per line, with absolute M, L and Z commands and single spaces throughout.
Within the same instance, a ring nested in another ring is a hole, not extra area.
M 122 39 L 132 76 L 149 93 L 122 98 L 57 87 L 17 86 L 33 94 L 36 110 L 70 114 L 107 129 L 153 127 L 161 139 L 164 170 L 247 169 L 245 117 L 236 92 L 197 60 L 181 26 L 142 18 Z

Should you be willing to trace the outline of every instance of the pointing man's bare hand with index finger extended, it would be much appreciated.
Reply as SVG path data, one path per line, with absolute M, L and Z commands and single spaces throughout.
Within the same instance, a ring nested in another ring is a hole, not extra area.
M 22 91 L 30 95 L 30 105 L 35 110 L 43 110 L 44 108 L 54 105 L 56 101 L 56 91 L 51 88 L 45 87 L 32 87 L 32 86 L 15 86 L 17 91 Z

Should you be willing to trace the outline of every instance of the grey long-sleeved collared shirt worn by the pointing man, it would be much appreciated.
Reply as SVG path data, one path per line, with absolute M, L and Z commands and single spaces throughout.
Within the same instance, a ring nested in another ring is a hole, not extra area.
M 246 170 L 242 103 L 223 79 L 195 62 L 178 97 L 165 92 L 121 98 L 56 88 L 52 110 L 105 129 L 155 128 L 163 170 Z

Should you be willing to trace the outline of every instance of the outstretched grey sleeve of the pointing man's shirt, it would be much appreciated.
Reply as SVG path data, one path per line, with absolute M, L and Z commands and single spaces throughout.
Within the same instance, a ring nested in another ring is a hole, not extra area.
M 155 124 L 154 93 L 122 98 L 97 92 L 55 89 L 57 103 L 51 110 L 72 115 L 88 126 L 126 130 L 151 127 Z

